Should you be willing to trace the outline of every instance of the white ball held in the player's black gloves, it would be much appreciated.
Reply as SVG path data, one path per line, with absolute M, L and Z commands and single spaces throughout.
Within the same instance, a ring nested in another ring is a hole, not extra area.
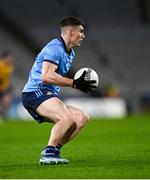
M 86 71 L 85 80 L 87 80 L 87 81 L 95 80 L 96 81 L 96 83 L 92 84 L 92 85 L 94 85 L 96 87 L 95 88 L 93 88 L 93 87 L 90 88 L 91 91 L 94 91 L 98 87 L 99 77 L 98 77 L 98 74 L 96 73 L 96 71 L 94 71 L 93 69 L 91 69 L 91 68 L 81 68 L 81 69 L 79 69 L 75 73 L 74 79 L 78 79 L 83 74 L 84 71 Z

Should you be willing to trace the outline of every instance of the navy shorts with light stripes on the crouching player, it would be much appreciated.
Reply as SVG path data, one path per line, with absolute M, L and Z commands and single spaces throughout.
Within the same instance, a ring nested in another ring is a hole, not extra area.
M 36 113 L 37 107 L 47 99 L 52 97 L 58 97 L 58 94 L 55 94 L 47 89 L 38 89 L 35 92 L 23 92 L 22 93 L 22 104 L 29 112 L 29 114 L 39 123 L 44 122 L 44 117 Z

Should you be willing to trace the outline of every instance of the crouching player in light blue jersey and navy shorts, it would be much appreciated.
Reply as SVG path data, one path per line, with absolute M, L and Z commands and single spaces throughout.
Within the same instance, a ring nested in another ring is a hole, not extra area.
M 64 77 L 75 57 L 74 46 L 85 38 L 83 22 L 66 17 L 60 23 L 61 36 L 50 41 L 37 55 L 23 93 L 24 107 L 39 123 L 54 126 L 47 147 L 41 152 L 40 164 L 68 164 L 60 157 L 60 149 L 85 126 L 89 116 L 59 98 L 60 86 L 73 87 L 88 93 L 95 81 L 86 81 L 84 72 L 77 80 Z

